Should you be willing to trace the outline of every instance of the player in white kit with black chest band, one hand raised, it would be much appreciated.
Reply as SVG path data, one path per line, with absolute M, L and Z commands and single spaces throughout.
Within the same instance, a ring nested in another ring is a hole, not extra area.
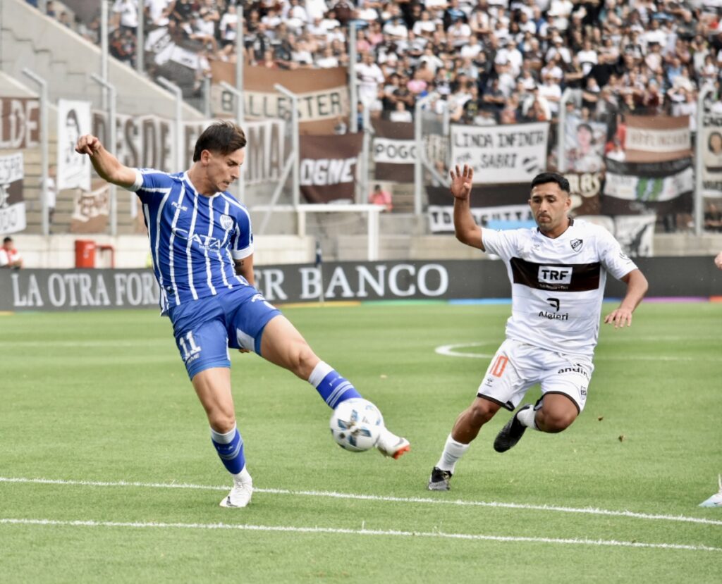
M 535 229 L 482 229 L 471 216 L 474 171 L 451 171 L 456 238 L 498 255 L 511 282 L 506 340 L 492 360 L 474 402 L 461 412 L 431 472 L 429 490 L 448 490 L 456 463 L 482 426 L 504 407 L 513 412 L 526 391 L 541 385 L 541 399 L 521 407 L 494 441 L 497 452 L 515 446 L 526 428 L 557 433 L 584 409 L 594 370 L 606 273 L 627 284 L 617 309 L 604 318 L 630 326 L 647 280 L 606 229 L 572 219 L 569 182 L 544 172 L 531 181 Z

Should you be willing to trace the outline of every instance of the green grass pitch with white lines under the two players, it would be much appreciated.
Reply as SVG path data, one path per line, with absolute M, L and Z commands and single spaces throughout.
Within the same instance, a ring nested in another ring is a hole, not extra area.
M 342 451 L 308 384 L 234 353 L 243 510 L 218 506 L 227 475 L 167 319 L 0 317 L 0 581 L 720 582 L 722 508 L 698 505 L 722 472 L 722 304 L 603 326 L 571 428 L 496 454 L 501 411 L 451 492 L 426 490 L 509 310 L 285 309 L 412 451 Z

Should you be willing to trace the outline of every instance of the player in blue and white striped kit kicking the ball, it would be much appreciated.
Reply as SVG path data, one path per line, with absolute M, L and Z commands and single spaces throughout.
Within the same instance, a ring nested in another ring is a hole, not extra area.
M 191 169 L 175 174 L 123 166 L 95 136 L 81 136 L 76 146 L 103 180 L 135 191 L 143 204 L 162 314 L 173 323 L 213 445 L 232 474 L 220 504 L 237 508 L 250 502 L 253 482 L 235 422 L 228 348 L 253 351 L 308 380 L 331 408 L 360 397 L 253 287 L 251 219 L 227 193 L 238 180 L 245 143 L 237 125 L 214 123 L 199 136 Z M 384 428 L 377 448 L 397 459 L 409 441 Z

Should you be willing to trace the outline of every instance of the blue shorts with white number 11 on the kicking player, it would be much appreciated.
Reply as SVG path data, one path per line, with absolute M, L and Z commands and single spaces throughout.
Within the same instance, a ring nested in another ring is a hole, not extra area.
M 175 344 L 191 379 L 205 369 L 230 367 L 229 347 L 261 355 L 264 327 L 279 314 L 281 311 L 252 286 L 173 306 L 168 311 Z

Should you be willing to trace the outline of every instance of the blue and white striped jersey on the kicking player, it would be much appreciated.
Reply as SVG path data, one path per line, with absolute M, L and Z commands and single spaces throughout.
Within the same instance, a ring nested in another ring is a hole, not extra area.
M 234 260 L 253 253 L 245 206 L 229 193 L 197 193 L 187 172 L 135 171 L 129 190 L 143 203 L 162 314 L 178 304 L 249 286 L 234 266 Z

